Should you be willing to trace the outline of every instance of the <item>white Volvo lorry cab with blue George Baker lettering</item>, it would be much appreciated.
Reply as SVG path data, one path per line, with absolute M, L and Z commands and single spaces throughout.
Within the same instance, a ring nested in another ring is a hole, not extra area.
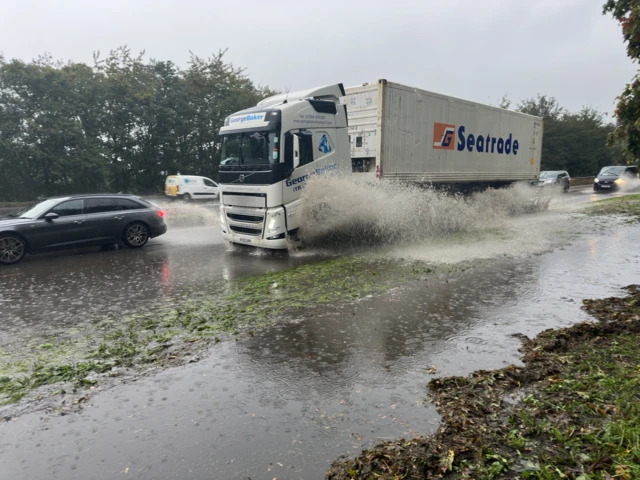
M 302 190 L 351 171 L 342 84 L 276 95 L 225 119 L 220 222 L 226 240 L 286 249 L 300 227 Z

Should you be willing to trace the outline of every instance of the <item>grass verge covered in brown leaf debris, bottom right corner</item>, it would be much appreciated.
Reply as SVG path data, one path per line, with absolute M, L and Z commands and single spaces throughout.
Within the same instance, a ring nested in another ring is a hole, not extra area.
M 433 436 L 338 460 L 326 478 L 640 479 L 640 286 L 626 289 L 584 301 L 597 323 L 525 338 L 524 368 L 432 380 Z

